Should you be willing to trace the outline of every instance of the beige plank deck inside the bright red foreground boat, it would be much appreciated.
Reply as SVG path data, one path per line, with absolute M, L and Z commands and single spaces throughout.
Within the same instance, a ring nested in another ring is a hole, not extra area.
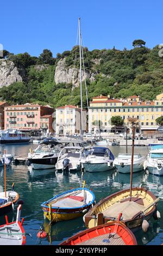
M 96 236 L 82 243 L 79 243 L 78 245 L 125 245 L 121 236 L 115 233 L 111 233 L 111 235 L 113 235 L 111 238 L 109 238 L 109 234 Z

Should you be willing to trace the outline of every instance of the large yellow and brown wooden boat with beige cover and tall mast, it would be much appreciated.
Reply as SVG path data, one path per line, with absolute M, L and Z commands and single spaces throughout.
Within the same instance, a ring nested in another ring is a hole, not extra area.
M 102 199 L 84 216 L 87 228 L 96 227 L 109 221 L 115 221 L 122 213 L 121 222 L 130 229 L 139 227 L 144 220 L 152 216 L 159 218 L 156 204 L 159 198 L 146 188 L 134 187 L 130 197 L 130 189 L 122 190 Z

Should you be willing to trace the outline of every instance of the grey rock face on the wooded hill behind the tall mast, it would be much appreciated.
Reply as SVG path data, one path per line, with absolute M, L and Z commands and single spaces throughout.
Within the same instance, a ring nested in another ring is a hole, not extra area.
M 95 73 L 85 72 L 85 78 L 89 78 L 91 81 L 95 80 Z M 82 80 L 84 78 L 84 72 L 82 70 Z M 75 87 L 80 84 L 80 71 L 78 69 L 67 68 L 65 59 L 61 59 L 55 69 L 54 75 L 55 83 L 72 83 Z

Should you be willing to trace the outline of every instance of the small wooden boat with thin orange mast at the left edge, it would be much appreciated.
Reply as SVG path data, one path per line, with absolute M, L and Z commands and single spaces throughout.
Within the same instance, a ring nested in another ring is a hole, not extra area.
M 18 193 L 14 191 L 14 183 L 12 184 L 12 190 L 7 191 L 6 166 L 9 163 L 10 160 L 4 150 L 4 192 L 0 192 L 0 216 L 12 210 L 19 198 Z

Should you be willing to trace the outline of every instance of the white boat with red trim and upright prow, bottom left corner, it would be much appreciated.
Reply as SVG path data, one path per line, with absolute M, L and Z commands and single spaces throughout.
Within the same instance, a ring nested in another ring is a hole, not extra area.
M 25 245 L 26 234 L 23 228 L 23 221 L 20 222 L 22 205 L 17 208 L 17 216 L 15 222 L 8 222 L 5 216 L 6 224 L 0 225 L 0 245 Z

